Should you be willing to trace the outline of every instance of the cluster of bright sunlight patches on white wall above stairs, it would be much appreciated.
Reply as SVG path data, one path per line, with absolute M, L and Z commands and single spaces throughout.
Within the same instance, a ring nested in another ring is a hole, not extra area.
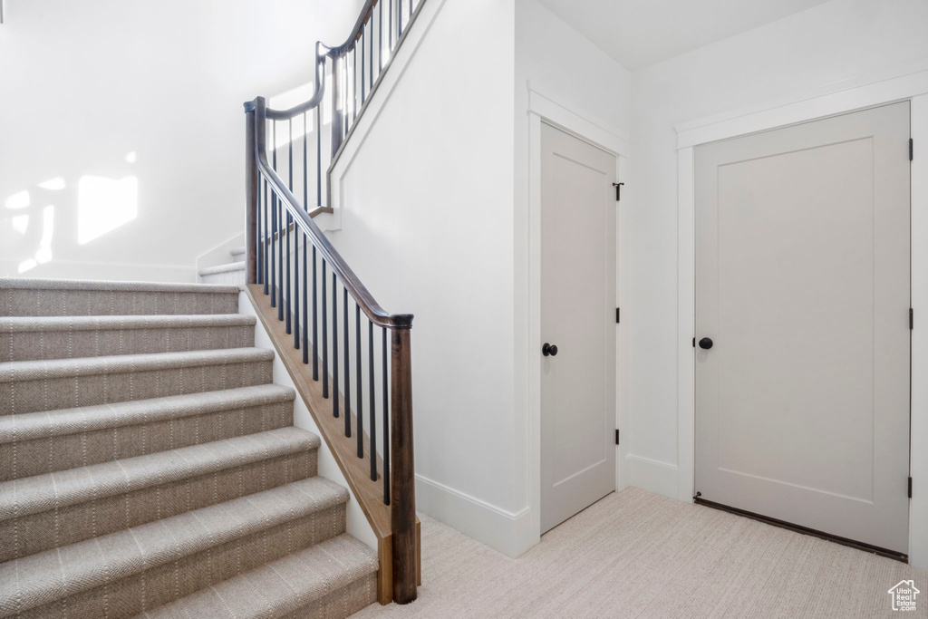
M 0 195 L 0 257 L 11 260 L 4 275 L 34 275 L 30 272 L 55 260 L 58 250 L 93 243 L 135 220 L 135 161 L 132 151 L 108 166 L 108 175 L 50 175 L 32 187 Z

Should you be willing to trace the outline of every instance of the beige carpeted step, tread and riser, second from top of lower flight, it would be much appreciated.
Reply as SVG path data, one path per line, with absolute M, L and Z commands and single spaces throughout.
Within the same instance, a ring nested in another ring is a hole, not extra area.
M 0 317 L 0 363 L 254 345 L 254 316 Z

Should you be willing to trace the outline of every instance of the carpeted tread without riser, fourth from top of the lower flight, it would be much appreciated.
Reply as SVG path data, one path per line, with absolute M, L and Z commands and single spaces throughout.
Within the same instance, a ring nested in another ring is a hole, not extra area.
M 265 384 L 216 392 L 167 395 L 148 400 L 3 415 L 0 416 L 0 445 L 289 402 L 295 396 L 296 392 L 288 387 Z

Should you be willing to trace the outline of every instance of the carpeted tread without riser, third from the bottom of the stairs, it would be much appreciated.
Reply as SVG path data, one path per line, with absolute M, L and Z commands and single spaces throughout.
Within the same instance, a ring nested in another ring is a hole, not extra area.
M 319 445 L 316 434 L 290 426 L 10 480 L 0 483 L 0 521 L 200 477 Z

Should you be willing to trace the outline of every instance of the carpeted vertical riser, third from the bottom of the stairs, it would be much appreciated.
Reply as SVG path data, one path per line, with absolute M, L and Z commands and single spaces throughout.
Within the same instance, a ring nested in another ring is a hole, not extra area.
M 0 522 L 0 562 L 313 477 L 316 454 L 306 450 L 132 493 L 87 496 L 84 503 Z

